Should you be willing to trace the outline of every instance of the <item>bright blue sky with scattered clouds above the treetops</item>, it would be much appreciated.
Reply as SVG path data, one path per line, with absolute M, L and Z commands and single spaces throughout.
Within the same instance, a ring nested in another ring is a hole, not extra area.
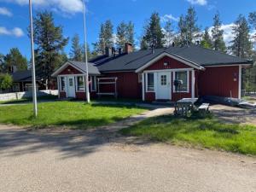
M 0 53 L 7 54 L 10 48 L 18 47 L 23 55 L 30 57 L 30 41 L 26 32 L 29 25 L 27 3 L 28 0 L 0 0 Z M 73 37 L 79 33 L 83 38 L 80 0 L 33 0 L 33 3 L 33 14 L 44 9 L 54 12 L 55 23 L 63 26 L 64 36 Z M 172 18 L 176 26 L 177 17 L 185 14 L 190 5 L 195 6 L 201 29 L 212 26 L 212 17 L 219 11 L 226 41 L 231 38 L 230 26 L 236 17 L 256 11 L 254 0 L 89 0 L 86 3 L 88 42 L 96 42 L 101 23 L 108 19 L 115 27 L 122 20 L 132 20 L 136 38 L 141 36 L 143 26 L 153 11 L 159 12 L 162 18 Z M 65 48 L 67 54 L 69 49 L 70 44 Z

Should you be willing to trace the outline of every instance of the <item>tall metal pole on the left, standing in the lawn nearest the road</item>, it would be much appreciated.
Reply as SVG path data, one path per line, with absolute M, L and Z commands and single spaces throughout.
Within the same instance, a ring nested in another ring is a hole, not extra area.
M 32 97 L 34 116 L 38 116 L 38 101 L 37 101 L 37 84 L 35 70 L 35 55 L 34 55 L 34 35 L 33 35 L 33 20 L 32 20 L 32 0 L 29 0 L 29 15 L 30 15 L 30 39 L 31 39 L 31 55 L 32 55 Z

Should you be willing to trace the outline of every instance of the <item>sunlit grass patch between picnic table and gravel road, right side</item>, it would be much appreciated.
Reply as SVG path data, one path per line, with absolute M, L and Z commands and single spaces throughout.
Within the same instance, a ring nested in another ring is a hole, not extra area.
M 121 133 L 177 145 L 256 155 L 256 126 L 224 124 L 210 116 L 206 119 L 196 116 L 186 119 L 174 116 L 145 119 L 129 129 L 121 130 Z

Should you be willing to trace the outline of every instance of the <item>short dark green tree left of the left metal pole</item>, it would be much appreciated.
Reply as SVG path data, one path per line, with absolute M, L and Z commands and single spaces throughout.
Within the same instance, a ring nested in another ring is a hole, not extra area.
M 17 71 L 24 71 L 27 69 L 27 60 L 20 54 L 18 48 L 12 48 L 9 50 L 9 54 L 4 57 L 4 65 L 9 73 L 13 73 L 14 67 Z

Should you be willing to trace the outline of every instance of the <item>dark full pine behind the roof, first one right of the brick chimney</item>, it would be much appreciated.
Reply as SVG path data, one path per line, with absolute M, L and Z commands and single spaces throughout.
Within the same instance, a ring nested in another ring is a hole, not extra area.
M 143 40 L 148 44 L 148 46 L 154 45 L 154 48 L 164 47 L 164 34 L 160 26 L 160 16 L 158 13 L 154 12 L 148 22 L 148 26 L 145 28 L 145 35 Z

